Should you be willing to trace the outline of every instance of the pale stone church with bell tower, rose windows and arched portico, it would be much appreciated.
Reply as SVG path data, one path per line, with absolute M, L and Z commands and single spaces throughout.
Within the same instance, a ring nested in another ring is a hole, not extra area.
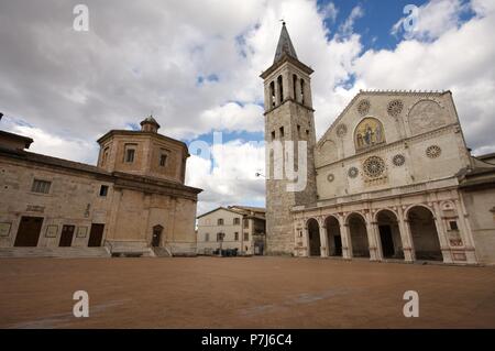
M 312 73 L 284 23 L 261 75 L 267 252 L 495 263 L 495 154 L 471 155 L 452 94 L 360 91 L 317 141 Z M 271 146 L 287 141 L 307 145 L 306 187 L 295 191 L 274 176 L 277 161 L 297 168 L 297 151 Z

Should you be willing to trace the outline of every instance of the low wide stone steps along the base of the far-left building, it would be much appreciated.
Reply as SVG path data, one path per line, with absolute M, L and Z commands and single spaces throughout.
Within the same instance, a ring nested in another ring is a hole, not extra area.
M 110 257 L 105 248 L 1 248 L 0 257 Z

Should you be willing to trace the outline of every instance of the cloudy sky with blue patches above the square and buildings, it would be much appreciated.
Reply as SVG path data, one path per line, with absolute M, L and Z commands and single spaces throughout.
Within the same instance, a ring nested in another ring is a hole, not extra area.
M 198 213 L 264 206 L 258 76 L 282 19 L 315 69 L 317 138 L 360 89 L 451 90 L 473 154 L 495 151 L 493 0 L 0 0 L 0 129 L 95 164 L 99 136 L 153 113 L 190 146 Z

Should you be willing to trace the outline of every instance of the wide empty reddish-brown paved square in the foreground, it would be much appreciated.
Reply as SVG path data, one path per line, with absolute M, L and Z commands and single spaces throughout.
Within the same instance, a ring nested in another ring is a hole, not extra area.
M 494 328 L 495 267 L 289 257 L 3 259 L 2 328 Z M 75 318 L 75 290 L 89 318 Z M 419 293 L 405 318 L 403 294 Z

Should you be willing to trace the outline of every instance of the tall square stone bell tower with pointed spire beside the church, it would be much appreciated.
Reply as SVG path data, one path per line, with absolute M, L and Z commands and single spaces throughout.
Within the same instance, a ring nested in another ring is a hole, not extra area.
M 316 205 L 317 200 L 315 110 L 310 84 L 312 72 L 298 59 L 284 22 L 274 62 L 260 76 L 264 80 L 265 99 L 268 254 L 294 253 L 296 233 L 292 209 L 294 206 Z M 290 173 L 290 165 L 297 179 Z M 295 183 L 302 186 L 294 188 Z

